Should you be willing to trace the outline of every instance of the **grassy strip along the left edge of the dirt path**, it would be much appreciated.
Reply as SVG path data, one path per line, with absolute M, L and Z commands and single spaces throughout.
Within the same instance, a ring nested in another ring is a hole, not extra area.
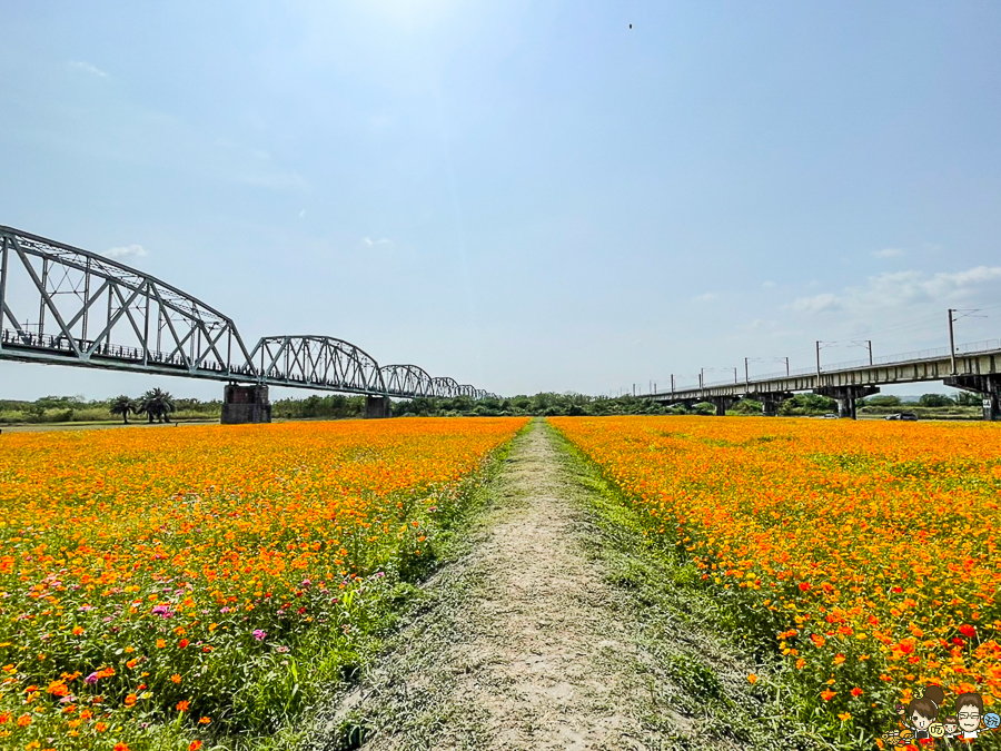
M 445 728 L 462 729 L 469 743 L 464 748 L 486 744 L 489 739 L 480 723 L 470 723 L 442 701 L 447 685 L 408 684 L 406 676 L 432 675 L 439 645 L 465 638 L 465 616 L 483 581 L 459 564 L 484 540 L 495 518 L 497 478 L 526 429 L 494 453 L 466 503 L 443 525 L 425 566 L 412 572 L 412 582 L 397 585 L 396 601 L 384 612 L 380 628 L 354 662 L 350 675 L 327 681 L 303 721 L 255 751 L 350 751 L 390 724 L 406 739 L 405 749 L 425 748 L 425 739 Z M 459 571 L 464 575 L 456 576 Z

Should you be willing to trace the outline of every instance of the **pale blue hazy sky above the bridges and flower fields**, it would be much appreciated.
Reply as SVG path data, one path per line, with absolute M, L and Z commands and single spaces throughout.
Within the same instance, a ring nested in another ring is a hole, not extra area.
M 816 340 L 824 363 L 942 347 L 949 308 L 958 344 L 1001 337 L 997 2 L 7 0 L 0 21 L 0 224 L 248 343 L 617 394 L 810 367 Z M 0 363 L 0 398 L 151 386 L 221 396 Z

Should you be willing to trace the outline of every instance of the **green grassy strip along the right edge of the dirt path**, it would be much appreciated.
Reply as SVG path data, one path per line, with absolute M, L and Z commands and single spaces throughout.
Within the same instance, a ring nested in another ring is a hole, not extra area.
M 622 616 L 635 623 L 636 641 L 648 655 L 636 665 L 651 672 L 645 728 L 671 738 L 687 723 L 693 735 L 742 748 L 774 749 L 777 739 L 785 749 L 836 748 L 793 719 L 789 691 L 769 679 L 776 666 L 751 656 L 735 630 L 736 614 L 703 589 L 694 566 L 651 542 L 601 468 L 556 429 L 546 429 L 576 480 L 574 502 L 592 527 L 583 536 L 587 553 L 605 567 Z M 752 673 L 760 676 L 753 684 Z M 692 743 L 681 738 L 673 748 L 698 748 Z

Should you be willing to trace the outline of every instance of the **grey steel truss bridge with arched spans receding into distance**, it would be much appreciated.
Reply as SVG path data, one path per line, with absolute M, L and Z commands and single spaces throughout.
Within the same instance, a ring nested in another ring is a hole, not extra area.
M 27 323 L 34 318 L 34 323 Z M 266 336 L 103 256 L 0 226 L 0 359 L 380 397 L 495 397 L 344 339 Z

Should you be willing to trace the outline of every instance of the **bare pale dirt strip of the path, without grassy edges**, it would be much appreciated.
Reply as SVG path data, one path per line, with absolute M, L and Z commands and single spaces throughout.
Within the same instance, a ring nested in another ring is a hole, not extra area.
M 486 748 L 637 748 L 638 723 L 620 708 L 641 686 L 632 670 L 615 670 L 634 648 L 604 610 L 612 593 L 601 572 L 573 544 L 582 520 L 567 501 L 572 478 L 539 427 L 511 460 L 504 480 L 517 513 L 477 552 L 486 580 L 470 621 L 482 628 L 452 650 L 473 669 L 453 699 L 486 713 Z

